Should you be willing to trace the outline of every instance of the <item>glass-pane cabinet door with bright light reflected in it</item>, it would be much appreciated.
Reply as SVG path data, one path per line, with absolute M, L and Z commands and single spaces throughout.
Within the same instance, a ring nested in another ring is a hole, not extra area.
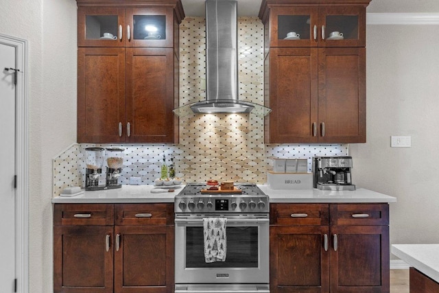
M 128 8 L 128 47 L 172 47 L 173 15 L 168 8 Z

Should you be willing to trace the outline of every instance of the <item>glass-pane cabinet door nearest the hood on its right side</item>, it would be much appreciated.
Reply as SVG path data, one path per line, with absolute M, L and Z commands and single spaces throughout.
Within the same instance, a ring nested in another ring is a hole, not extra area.
M 272 47 L 317 47 L 313 23 L 317 10 L 309 8 L 272 8 Z

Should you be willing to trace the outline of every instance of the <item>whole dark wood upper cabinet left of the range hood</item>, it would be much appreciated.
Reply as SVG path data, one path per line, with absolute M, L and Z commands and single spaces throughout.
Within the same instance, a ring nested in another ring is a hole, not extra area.
M 177 143 L 179 0 L 78 0 L 78 142 Z

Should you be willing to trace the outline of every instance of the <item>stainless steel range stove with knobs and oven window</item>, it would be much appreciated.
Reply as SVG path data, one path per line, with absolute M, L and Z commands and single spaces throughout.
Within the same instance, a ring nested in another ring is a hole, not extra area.
M 269 200 L 254 184 L 230 193 L 190 183 L 175 198 L 176 293 L 269 293 Z M 204 226 L 226 220 L 225 260 L 206 262 Z

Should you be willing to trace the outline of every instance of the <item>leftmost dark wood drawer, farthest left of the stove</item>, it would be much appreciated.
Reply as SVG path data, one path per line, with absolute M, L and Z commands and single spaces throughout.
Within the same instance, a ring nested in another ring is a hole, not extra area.
M 112 225 L 113 204 L 55 204 L 54 225 Z

